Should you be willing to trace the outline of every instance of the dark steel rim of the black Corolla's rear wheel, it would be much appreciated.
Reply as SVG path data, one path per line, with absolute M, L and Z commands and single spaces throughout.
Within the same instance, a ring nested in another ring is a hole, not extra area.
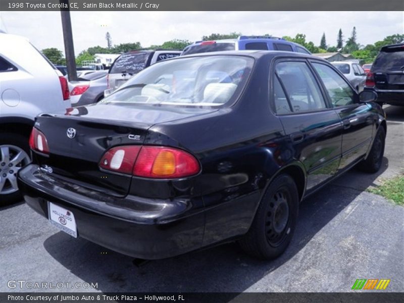
M 266 221 L 266 235 L 268 242 L 273 245 L 279 245 L 288 234 L 289 228 L 289 204 L 287 193 L 278 190 L 269 201 L 269 210 Z

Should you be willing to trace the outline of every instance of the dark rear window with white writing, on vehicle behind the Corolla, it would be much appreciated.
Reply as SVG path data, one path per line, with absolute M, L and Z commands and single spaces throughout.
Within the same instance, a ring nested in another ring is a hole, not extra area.
M 110 74 L 136 74 L 146 68 L 151 53 L 127 53 L 120 56 L 113 64 Z

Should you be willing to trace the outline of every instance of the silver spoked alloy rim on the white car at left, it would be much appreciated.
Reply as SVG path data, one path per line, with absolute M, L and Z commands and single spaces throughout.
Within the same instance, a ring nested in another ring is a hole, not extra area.
M 30 162 L 25 151 L 15 145 L 0 145 L 0 194 L 18 191 L 17 172 Z

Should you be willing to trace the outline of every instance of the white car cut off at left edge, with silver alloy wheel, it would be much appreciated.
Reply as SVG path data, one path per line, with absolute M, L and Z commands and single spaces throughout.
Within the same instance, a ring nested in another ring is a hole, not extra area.
M 16 174 L 30 162 L 35 116 L 70 106 L 62 73 L 28 39 L 0 32 L 0 206 L 21 198 Z

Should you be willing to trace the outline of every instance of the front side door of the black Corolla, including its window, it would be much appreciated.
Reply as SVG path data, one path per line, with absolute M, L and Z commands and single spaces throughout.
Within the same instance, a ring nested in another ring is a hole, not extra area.
M 339 170 L 354 165 L 367 153 L 375 131 L 377 114 L 372 107 L 359 102 L 358 93 L 333 67 L 326 63 L 312 61 L 327 92 L 329 102 L 343 124 Z

